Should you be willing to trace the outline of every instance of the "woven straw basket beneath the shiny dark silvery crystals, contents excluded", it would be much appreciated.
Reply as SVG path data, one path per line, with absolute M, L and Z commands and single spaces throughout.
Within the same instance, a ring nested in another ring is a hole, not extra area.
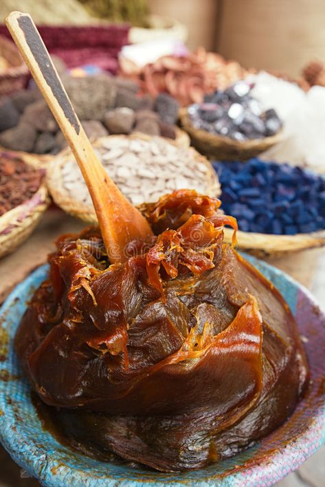
M 243 142 L 215 135 L 199 128 L 195 128 L 188 117 L 186 109 L 179 111 L 179 119 L 182 128 L 190 135 L 192 144 L 199 152 L 207 157 L 227 161 L 242 160 L 245 161 L 250 157 L 255 157 L 272 147 L 282 139 L 282 131 L 271 137 L 264 139 L 252 139 Z

